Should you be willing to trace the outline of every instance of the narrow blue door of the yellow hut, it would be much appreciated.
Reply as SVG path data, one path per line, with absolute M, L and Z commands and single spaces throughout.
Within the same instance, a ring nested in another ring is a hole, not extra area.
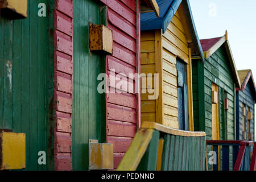
M 179 129 L 188 131 L 187 65 L 177 59 L 177 94 Z

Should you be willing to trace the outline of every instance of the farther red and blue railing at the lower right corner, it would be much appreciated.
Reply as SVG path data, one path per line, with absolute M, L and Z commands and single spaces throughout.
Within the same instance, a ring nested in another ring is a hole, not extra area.
M 222 171 L 229 171 L 229 147 L 232 146 L 233 171 L 254 171 L 256 160 L 256 144 L 254 143 L 253 154 L 251 156 L 251 145 L 254 142 L 242 140 L 207 140 L 207 146 L 212 146 L 213 151 L 218 156 L 219 148 L 222 146 Z M 209 152 L 209 151 L 208 151 Z M 218 171 L 220 161 L 213 164 L 213 171 Z

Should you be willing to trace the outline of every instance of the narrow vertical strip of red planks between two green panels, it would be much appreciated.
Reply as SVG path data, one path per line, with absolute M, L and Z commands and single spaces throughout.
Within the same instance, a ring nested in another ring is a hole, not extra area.
M 56 0 L 54 10 L 55 170 L 72 170 L 73 0 Z M 64 65 L 66 64 L 67 65 Z M 60 67 L 60 65 L 64 65 Z M 62 68 L 62 69 L 61 69 Z

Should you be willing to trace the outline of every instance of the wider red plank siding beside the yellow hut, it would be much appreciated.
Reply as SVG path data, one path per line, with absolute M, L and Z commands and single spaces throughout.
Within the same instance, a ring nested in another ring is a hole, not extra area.
M 114 70 L 116 75 L 125 74 L 122 79 L 128 80 L 129 73 L 140 73 L 140 3 L 134 0 L 102 2 L 107 9 L 106 26 L 113 31 L 113 55 L 106 56 L 106 73 L 110 78 L 110 71 Z M 111 84 L 109 82 L 109 90 Z M 133 78 L 127 81 L 127 85 L 129 93 L 118 93 L 128 92 L 123 88 L 106 94 L 106 142 L 114 145 L 114 169 L 118 167 L 140 125 L 140 94 L 135 93 L 139 82 Z

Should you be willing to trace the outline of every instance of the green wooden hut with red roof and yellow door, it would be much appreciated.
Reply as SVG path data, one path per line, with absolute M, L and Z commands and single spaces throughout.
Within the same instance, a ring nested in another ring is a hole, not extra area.
M 241 84 L 228 34 L 200 42 L 204 63 L 192 61 L 195 131 L 205 131 L 207 140 L 235 140 L 236 88 Z M 212 148 L 208 148 L 210 150 Z

